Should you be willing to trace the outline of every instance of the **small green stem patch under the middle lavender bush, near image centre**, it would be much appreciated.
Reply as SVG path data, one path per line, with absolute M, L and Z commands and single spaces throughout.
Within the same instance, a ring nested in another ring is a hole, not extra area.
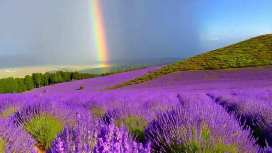
M 137 135 L 137 140 L 140 142 L 145 141 L 145 127 L 147 122 L 139 116 L 130 116 L 123 120 L 116 121 L 116 126 L 124 125 L 128 127 L 128 132 Z

